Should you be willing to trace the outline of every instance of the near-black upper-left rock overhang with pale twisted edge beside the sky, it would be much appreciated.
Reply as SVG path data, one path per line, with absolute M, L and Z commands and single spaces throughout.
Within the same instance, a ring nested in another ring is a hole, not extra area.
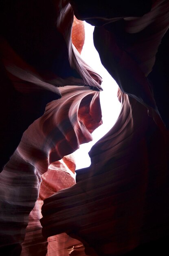
M 101 77 L 72 45 L 74 15 L 68 1 L 9 0 L 0 9 L 2 171 L 23 132 L 48 102 L 61 97 L 58 87 L 85 85 L 99 91 Z

